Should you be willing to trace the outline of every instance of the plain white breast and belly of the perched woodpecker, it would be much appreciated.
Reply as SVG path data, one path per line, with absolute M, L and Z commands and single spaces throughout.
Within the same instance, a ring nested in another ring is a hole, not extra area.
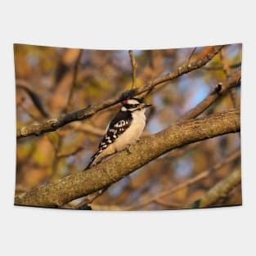
M 124 150 L 128 144 L 132 144 L 141 136 L 141 132 L 145 128 L 146 116 L 145 109 L 132 112 L 132 124 L 129 128 L 118 137 L 113 143 L 116 151 Z

